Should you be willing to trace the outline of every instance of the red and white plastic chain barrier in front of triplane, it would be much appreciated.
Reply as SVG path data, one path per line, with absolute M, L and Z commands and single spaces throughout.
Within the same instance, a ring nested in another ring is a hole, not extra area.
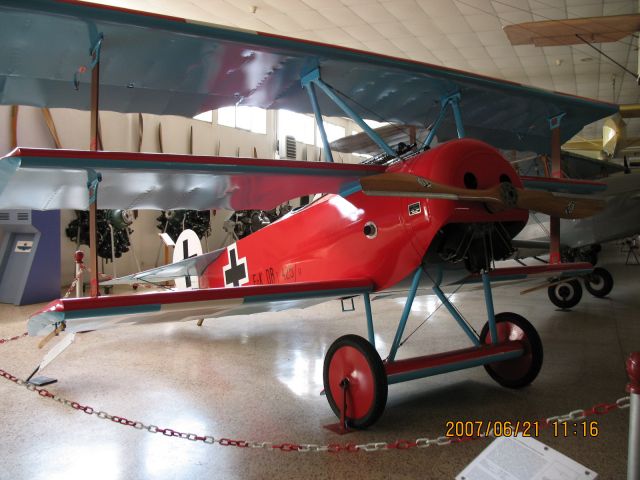
M 14 340 L 19 340 L 25 337 L 27 334 L 17 335 L 11 338 L 0 339 L 0 344 L 7 343 Z M 330 443 L 327 445 L 319 445 L 315 443 L 273 443 L 273 442 L 257 442 L 248 440 L 232 440 L 229 438 L 215 438 L 211 435 L 198 435 L 196 433 L 184 433 L 173 430 L 171 428 L 161 428 L 157 425 L 147 425 L 143 422 L 136 420 L 129 420 L 128 418 L 111 415 L 105 411 L 96 411 L 93 407 L 88 405 L 82 405 L 78 402 L 68 400 L 51 393 L 46 388 L 37 387 L 31 383 L 17 378 L 14 375 L 0 369 L 0 376 L 7 380 L 14 382 L 16 385 L 25 387 L 31 392 L 36 392 L 38 395 L 44 398 L 49 398 L 61 403 L 74 410 L 79 410 L 87 415 L 95 415 L 103 420 L 111 420 L 114 423 L 125 425 L 127 427 L 133 427 L 136 430 L 146 430 L 149 433 L 161 433 L 167 437 L 176 437 L 183 440 L 189 440 L 192 442 L 202 442 L 210 445 L 220 445 L 223 447 L 239 447 L 239 448 L 259 448 L 264 450 L 279 450 L 282 452 L 379 452 L 382 450 L 408 450 L 411 448 L 428 448 L 430 446 L 444 446 L 455 443 L 462 443 L 470 440 L 478 440 L 481 438 L 492 437 L 493 435 L 478 435 L 472 437 L 448 437 L 440 436 L 437 438 L 416 438 L 415 440 L 396 440 L 394 442 L 370 442 L 370 443 Z M 545 429 L 554 423 L 564 423 L 568 421 L 580 421 L 591 415 L 604 415 L 612 412 L 613 410 L 622 410 L 629 408 L 630 397 L 622 397 L 613 403 L 599 403 L 591 408 L 573 410 L 566 415 L 558 415 L 548 417 L 538 421 L 540 429 Z

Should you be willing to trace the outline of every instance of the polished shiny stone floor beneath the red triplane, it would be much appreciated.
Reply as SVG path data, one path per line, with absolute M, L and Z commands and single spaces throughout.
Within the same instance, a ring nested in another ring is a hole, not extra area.
M 50 365 L 67 399 L 179 432 L 273 443 L 365 443 L 436 438 L 449 420 L 535 420 L 625 396 L 624 360 L 640 350 L 640 266 L 625 266 L 613 248 L 603 265 L 616 285 L 608 298 L 585 292 L 560 311 L 545 290 L 495 290 L 496 311 L 527 317 L 542 337 L 537 380 L 522 390 L 497 385 L 483 368 L 389 388 L 387 408 L 367 431 L 338 436 L 322 389 L 323 355 L 335 338 L 366 335 L 362 303 L 342 313 L 339 302 L 306 310 L 194 323 L 125 327 L 80 335 Z M 484 323 L 481 291 L 463 288 L 455 302 L 470 323 Z M 409 329 L 437 306 L 416 300 Z M 0 306 L 0 337 L 25 330 L 38 306 Z M 387 353 L 401 304 L 374 302 L 379 350 Z M 0 368 L 20 378 L 39 362 L 39 339 L 0 345 Z M 400 350 L 399 357 L 468 346 L 440 309 Z M 42 398 L 0 378 L 0 478 L 453 478 L 490 440 L 407 451 L 298 453 L 206 445 L 101 420 Z M 598 436 L 539 440 L 603 479 L 624 478 L 629 410 L 595 418 Z M 593 417 L 592 417 L 593 418 Z

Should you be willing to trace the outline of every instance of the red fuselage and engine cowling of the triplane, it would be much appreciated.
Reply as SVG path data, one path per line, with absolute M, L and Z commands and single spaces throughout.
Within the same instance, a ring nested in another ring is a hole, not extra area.
M 522 187 L 497 150 L 470 139 L 444 143 L 387 171 L 463 188 L 502 181 Z M 445 225 L 523 226 L 527 219 L 525 210 L 491 213 L 477 202 L 373 197 L 361 191 L 346 198 L 325 195 L 228 247 L 207 268 L 200 287 L 369 278 L 382 290 L 420 265 Z

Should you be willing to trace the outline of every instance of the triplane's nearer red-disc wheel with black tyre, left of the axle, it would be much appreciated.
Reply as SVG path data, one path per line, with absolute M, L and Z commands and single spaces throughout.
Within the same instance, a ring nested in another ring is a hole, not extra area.
M 349 427 L 367 428 L 375 423 L 387 404 L 387 375 L 380 355 L 364 338 L 338 338 L 324 358 L 324 391 L 333 412 Z M 344 390 L 345 380 L 347 386 Z

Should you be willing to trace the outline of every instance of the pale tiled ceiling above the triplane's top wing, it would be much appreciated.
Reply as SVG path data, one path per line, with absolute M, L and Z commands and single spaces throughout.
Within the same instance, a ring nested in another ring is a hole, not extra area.
M 613 103 L 638 103 L 634 76 L 588 45 L 512 46 L 502 27 L 638 12 L 638 0 L 92 0 L 444 65 Z M 595 44 L 638 72 L 637 38 Z M 582 136 L 601 136 L 600 125 Z M 628 133 L 640 134 L 640 120 Z

